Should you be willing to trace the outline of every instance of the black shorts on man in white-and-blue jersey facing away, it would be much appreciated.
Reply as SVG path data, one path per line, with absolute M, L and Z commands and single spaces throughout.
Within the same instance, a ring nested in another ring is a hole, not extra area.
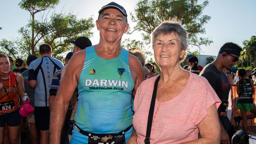
M 35 127 L 39 130 L 49 130 L 50 111 L 49 107 L 34 107 Z

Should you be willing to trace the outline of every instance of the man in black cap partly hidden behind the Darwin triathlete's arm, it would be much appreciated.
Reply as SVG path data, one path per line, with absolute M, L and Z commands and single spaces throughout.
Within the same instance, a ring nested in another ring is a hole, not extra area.
M 74 54 L 76 52 L 79 52 L 80 50 L 84 50 L 85 48 L 92 46 L 90 39 L 87 37 L 79 37 L 76 39 L 76 41 L 70 41 L 70 43 L 74 44 L 73 52 Z M 79 47 L 78 47 L 79 46 Z M 67 64 L 69 63 L 69 60 L 71 59 L 73 52 L 69 52 L 66 57 L 65 57 L 65 63 L 66 65 L 62 70 L 58 70 L 55 72 L 54 77 L 52 79 L 52 85 L 50 88 L 50 97 L 49 97 L 49 109 L 50 111 L 52 110 L 52 103 L 57 95 L 57 91 L 59 89 L 59 83 L 62 80 L 63 75 L 65 74 L 65 70 L 67 67 Z M 70 120 L 72 124 L 74 123 L 74 113 L 76 112 L 76 107 L 77 107 L 77 97 L 76 97 L 76 92 L 74 93 L 72 100 L 72 104 L 69 104 L 69 109 L 67 111 L 66 117 L 65 117 L 65 122 L 64 126 L 61 131 L 61 144 L 69 144 L 69 132 L 70 132 Z M 72 129 L 72 128 L 71 128 Z

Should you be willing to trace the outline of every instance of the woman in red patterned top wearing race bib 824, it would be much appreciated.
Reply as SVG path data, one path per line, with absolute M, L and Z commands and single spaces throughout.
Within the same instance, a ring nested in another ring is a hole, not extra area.
M 7 123 L 9 142 L 17 144 L 21 116 L 19 98 L 24 95 L 24 83 L 20 74 L 10 71 L 6 55 L 0 54 L 0 143 L 4 142 L 4 127 Z

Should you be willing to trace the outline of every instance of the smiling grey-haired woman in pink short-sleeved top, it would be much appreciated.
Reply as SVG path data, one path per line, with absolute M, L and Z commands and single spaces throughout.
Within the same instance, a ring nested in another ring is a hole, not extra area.
M 150 140 L 150 144 L 220 143 L 217 108 L 221 100 L 206 79 L 180 66 L 186 57 L 186 31 L 177 22 L 163 22 L 151 35 L 161 76 L 143 81 L 136 92 L 133 117 L 136 133 L 128 143 L 144 143 L 152 92 L 158 78 L 153 120 L 149 124 L 151 135 L 146 141 Z

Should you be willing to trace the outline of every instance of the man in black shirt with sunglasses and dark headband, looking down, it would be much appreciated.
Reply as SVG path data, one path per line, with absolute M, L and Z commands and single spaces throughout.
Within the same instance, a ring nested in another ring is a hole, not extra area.
M 225 43 L 219 50 L 216 59 L 208 64 L 200 76 L 205 77 L 215 90 L 222 103 L 218 108 L 219 121 L 221 125 L 221 143 L 231 144 L 231 139 L 236 133 L 234 126 L 227 117 L 228 94 L 230 91 L 230 82 L 223 68 L 230 69 L 239 60 L 241 47 L 232 42 Z

